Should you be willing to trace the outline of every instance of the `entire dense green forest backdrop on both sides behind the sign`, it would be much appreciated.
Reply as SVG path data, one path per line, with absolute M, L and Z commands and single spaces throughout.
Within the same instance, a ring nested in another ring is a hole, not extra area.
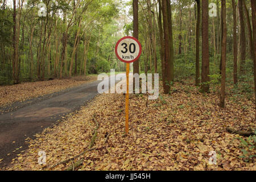
M 223 96 L 225 84 L 236 85 L 233 94 L 251 98 L 253 2 L 1 0 L 0 84 L 125 71 L 114 46 L 138 22 L 143 51 L 134 73 L 160 73 L 165 93 L 193 77 L 204 92 L 222 86 Z

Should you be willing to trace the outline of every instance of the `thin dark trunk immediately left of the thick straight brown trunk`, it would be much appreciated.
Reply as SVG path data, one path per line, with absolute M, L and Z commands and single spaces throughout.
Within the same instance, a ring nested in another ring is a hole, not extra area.
M 200 0 L 196 0 L 197 3 L 197 20 L 196 20 L 196 86 L 200 85 L 200 63 L 199 63 L 199 51 L 200 51 L 200 23 L 201 23 L 201 5 Z

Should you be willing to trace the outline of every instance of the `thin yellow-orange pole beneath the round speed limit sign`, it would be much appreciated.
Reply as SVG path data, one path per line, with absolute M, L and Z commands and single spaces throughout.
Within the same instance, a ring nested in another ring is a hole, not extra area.
M 126 63 L 126 98 L 125 98 L 125 133 L 129 132 L 129 71 L 130 63 Z

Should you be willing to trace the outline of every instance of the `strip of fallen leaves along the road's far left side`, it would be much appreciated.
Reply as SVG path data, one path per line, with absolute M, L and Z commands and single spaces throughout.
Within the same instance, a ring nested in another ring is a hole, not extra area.
M 23 82 L 18 85 L 0 86 L 0 107 L 10 106 L 15 102 L 59 92 L 67 88 L 79 86 L 85 82 L 97 80 L 96 75 L 75 76 L 69 79 Z

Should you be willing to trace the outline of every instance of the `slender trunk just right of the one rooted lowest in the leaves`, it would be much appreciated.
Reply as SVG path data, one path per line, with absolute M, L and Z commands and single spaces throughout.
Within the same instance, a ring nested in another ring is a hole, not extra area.
M 232 0 L 233 7 L 233 56 L 234 56 L 234 65 L 233 65 L 233 79 L 234 84 L 237 84 L 237 7 L 235 0 Z

